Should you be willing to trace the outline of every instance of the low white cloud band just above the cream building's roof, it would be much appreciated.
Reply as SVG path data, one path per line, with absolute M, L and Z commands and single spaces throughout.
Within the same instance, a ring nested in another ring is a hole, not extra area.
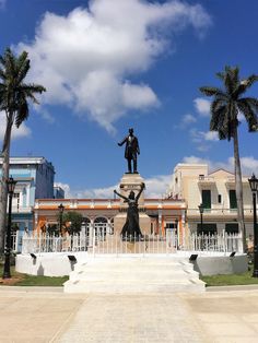
M 210 172 L 223 168 L 225 170 L 234 173 L 234 157 L 228 157 L 226 162 L 214 162 L 197 156 L 188 156 L 184 157 L 183 163 L 204 163 L 208 164 Z M 258 159 L 256 159 L 254 156 L 242 157 L 241 164 L 243 175 L 250 176 L 253 173 L 258 174 Z

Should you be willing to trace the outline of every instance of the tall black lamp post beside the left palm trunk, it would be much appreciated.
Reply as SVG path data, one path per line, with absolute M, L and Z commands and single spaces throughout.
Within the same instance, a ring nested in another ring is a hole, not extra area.
M 11 255 L 11 227 L 12 227 L 12 197 L 16 181 L 12 177 L 7 180 L 9 193 L 9 210 L 8 210 L 8 226 L 7 226 L 7 240 L 4 251 L 4 267 L 2 279 L 11 279 L 10 271 L 10 255 Z

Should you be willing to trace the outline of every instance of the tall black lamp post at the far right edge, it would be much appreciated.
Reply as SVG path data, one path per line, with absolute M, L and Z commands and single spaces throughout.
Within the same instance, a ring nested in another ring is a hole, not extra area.
M 258 277 L 258 233 L 257 233 L 257 215 L 256 215 L 256 197 L 258 190 L 258 179 L 255 174 L 248 179 L 253 192 L 254 206 L 254 272 L 253 277 Z

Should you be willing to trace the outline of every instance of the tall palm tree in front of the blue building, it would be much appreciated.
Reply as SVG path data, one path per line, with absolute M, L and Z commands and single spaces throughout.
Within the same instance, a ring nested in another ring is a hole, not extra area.
M 4 249 L 5 216 L 8 202 L 7 180 L 9 179 L 10 143 L 13 123 L 19 128 L 28 117 L 27 99 L 38 104 L 34 94 L 45 92 L 37 84 L 26 84 L 24 79 L 30 70 L 27 52 L 15 57 L 8 48 L 0 56 L 0 110 L 5 113 L 7 128 L 2 144 L 2 179 L 0 190 L 0 253 Z

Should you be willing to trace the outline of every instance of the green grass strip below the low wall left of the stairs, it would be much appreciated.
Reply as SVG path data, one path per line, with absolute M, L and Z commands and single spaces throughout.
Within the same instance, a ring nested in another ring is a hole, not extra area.
M 2 276 L 3 267 L 0 265 L 0 277 Z M 7 286 L 62 286 L 62 284 L 69 279 L 69 276 L 37 276 L 37 275 L 28 275 L 17 273 L 15 268 L 11 267 L 11 275 L 10 280 L 1 280 L 1 285 Z

